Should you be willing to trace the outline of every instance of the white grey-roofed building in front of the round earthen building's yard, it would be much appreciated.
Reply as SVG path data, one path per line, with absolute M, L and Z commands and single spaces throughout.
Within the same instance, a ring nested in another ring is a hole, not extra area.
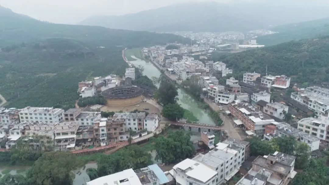
M 116 112 L 113 115 L 113 120 L 123 120 L 125 130 L 139 131 L 145 129 L 144 119 L 146 117 L 145 112 L 130 113 L 130 112 Z M 151 123 L 152 124 L 152 123 Z

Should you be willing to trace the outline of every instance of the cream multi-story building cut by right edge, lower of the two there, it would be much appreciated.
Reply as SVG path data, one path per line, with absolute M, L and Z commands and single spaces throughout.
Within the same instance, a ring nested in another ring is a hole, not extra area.
M 319 115 L 318 118 L 303 118 L 297 128 L 320 139 L 322 144 L 329 143 L 329 118 Z

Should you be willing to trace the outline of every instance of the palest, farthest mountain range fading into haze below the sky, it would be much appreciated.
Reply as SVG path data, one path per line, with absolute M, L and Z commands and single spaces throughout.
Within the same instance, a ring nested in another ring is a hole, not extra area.
M 257 3 L 185 3 L 122 16 L 97 15 L 78 24 L 135 31 L 249 31 L 329 16 L 328 7 Z

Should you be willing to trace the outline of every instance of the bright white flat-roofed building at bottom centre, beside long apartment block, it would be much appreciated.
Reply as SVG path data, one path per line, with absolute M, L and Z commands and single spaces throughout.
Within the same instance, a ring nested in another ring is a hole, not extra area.
M 218 173 L 208 166 L 192 160 L 185 159 L 173 167 L 173 177 L 177 184 L 217 185 Z

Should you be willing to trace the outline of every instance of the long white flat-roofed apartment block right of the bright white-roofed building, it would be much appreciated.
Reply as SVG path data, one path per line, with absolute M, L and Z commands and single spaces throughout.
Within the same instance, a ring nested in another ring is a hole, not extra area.
M 199 154 L 192 160 L 201 163 L 217 173 L 214 184 L 222 184 L 231 179 L 240 169 L 241 164 L 249 157 L 249 143 L 227 139 L 216 144 L 214 150 Z M 201 173 L 199 174 L 202 175 Z M 208 181 L 210 180 L 208 177 Z

